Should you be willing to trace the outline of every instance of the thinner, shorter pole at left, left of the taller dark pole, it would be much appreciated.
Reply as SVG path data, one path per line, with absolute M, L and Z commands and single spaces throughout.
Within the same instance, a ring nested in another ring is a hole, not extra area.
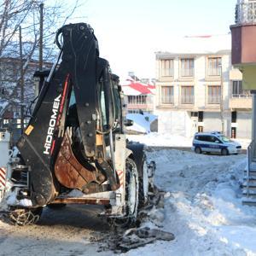
M 21 26 L 19 27 L 19 38 L 20 38 L 20 126 L 21 126 L 21 133 L 22 133 L 24 129 L 24 70 L 23 70 Z

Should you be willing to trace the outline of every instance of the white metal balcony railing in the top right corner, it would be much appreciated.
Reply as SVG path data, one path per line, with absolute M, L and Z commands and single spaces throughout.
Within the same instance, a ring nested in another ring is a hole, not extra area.
M 236 4 L 236 24 L 256 22 L 256 0 Z

